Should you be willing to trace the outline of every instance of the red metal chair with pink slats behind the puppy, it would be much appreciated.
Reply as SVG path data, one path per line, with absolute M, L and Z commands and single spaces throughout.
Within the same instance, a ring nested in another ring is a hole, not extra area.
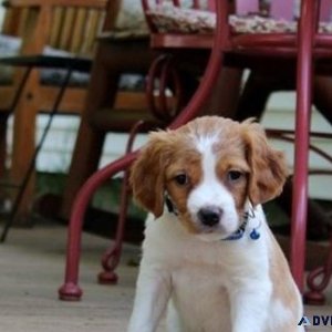
M 157 4 L 160 4 L 160 2 L 163 1 L 156 0 Z M 179 0 L 173 2 L 175 7 L 179 8 Z M 197 8 L 199 1 L 196 0 L 193 3 Z M 212 9 L 214 3 L 209 3 L 210 9 Z M 330 3 L 324 2 L 325 4 Z M 143 6 L 146 12 L 151 11 L 148 1 L 143 0 Z M 236 11 L 240 13 L 257 12 L 259 10 L 257 0 L 238 0 L 236 6 Z M 297 121 L 290 263 L 294 279 L 300 290 L 303 291 L 312 74 L 313 66 L 322 64 L 322 69 L 326 69 L 328 63 L 325 60 L 329 61 L 332 55 L 332 38 L 326 33 L 318 33 L 319 0 L 302 0 L 298 33 L 287 29 L 282 29 L 278 33 L 257 31 L 239 33 L 229 23 L 229 1 L 216 1 L 216 10 L 217 29 L 214 37 L 211 33 L 162 33 L 156 28 L 155 22 L 148 19 L 152 29 L 152 46 L 159 51 L 172 51 L 173 54 L 176 54 L 178 50 L 187 49 L 189 52 L 191 49 L 197 48 L 208 50 L 212 45 L 211 55 L 197 92 L 169 127 L 176 128 L 199 114 L 212 91 L 220 66 L 240 66 L 277 73 L 280 70 L 278 65 L 282 65 L 282 70 L 287 69 L 295 73 Z M 321 12 L 324 12 L 324 10 L 321 10 Z M 292 19 L 293 2 L 289 0 L 272 1 L 271 13 L 274 14 L 276 20 Z M 279 25 L 277 24 L 277 27 Z M 80 190 L 72 210 L 65 282 L 59 291 L 61 299 L 77 300 L 82 294 L 77 284 L 81 231 L 84 211 L 91 196 L 102 181 L 121 170 L 127 169 L 136 158 L 137 153 L 129 153 L 97 172 Z

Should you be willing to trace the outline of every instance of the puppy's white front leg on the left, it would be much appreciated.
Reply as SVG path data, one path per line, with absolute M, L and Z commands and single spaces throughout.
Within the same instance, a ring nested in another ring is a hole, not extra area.
M 144 259 L 143 259 L 144 260 Z M 170 295 L 170 276 L 142 261 L 128 332 L 154 332 Z

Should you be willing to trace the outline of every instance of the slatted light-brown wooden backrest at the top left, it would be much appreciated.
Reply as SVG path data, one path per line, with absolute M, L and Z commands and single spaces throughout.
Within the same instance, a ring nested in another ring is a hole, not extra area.
M 21 6 L 8 8 L 2 33 L 23 39 L 34 34 L 40 45 L 93 54 L 95 38 L 105 24 L 107 0 L 62 2 L 56 6 L 56 1 L 45 0 L 39 6 L 27 7 L 22 1 Z M 112 7 L 115 4 L 116 1 Z

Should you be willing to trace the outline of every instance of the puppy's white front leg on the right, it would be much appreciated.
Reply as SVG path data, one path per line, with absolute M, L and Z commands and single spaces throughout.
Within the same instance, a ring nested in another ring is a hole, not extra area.
M 230 291 L 232 332 L 266 331 L 272 287 L 268 282 L 252 282 L 253 286 L 237 283 Z

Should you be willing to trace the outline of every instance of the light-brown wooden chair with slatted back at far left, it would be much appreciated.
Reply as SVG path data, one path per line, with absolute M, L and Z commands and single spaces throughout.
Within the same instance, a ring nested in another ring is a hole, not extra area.
M 91 58 L 94 52 L 95 38 L 104 25 L 107 1 L 10 0 L 4 4 L 7 12 L 2 33 L 20 39 L 20 51 L 15 55 L 42 54 L 48 46 L 48 51 L 51 50 L 52 54 L 55 52 L 59 55 L 62 51 L 64 53 L 61 54 L 65 55 L 70 53 Z M 2 152 L 6 146 L 6 112 L 12 104 L 21 77 L 22 69 L 18 69 L 13 72 L 10 82 L 0 85 L 0 110 L 4 114 L 0 134 Z M 39 69 L 33 70 L 28 77 L 14 112 L 10 168 L 13 184 L 19 185 L 22 181 L 33 155 L 37 114 L 50 112 L 58 91 L 59 82 L 56 80 L 44 82 Z M 61 101 L 59 112 L 79 115 L 85 94 L 86 84 L 81 86 L 71 84 Z M 19 208 L 21 217 L 27 216 L 31 205 L 33 183 L 32 176 Z

